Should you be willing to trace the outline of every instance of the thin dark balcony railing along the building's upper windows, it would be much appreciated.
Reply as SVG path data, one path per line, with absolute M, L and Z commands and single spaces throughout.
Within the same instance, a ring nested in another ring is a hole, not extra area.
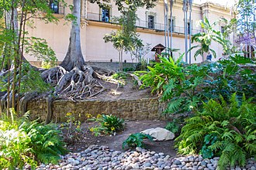
M 90 13 L 90 12 L 87 13 L 87 19 L 91 20 L 91 21 L 109 22 L 109 23 L 112 23 L 112 24 L 117 24 L 117 22 L 114 18 L 116 18 L 116 16 L 109 16 L 106 19 L 106 18 L 102 18 L 101 14 Z M 148 22 L 144 21 L 142 19 L 137 19 L 136 26 L 139 27 L 139 28 L 150 29 L 150 28 L 148 28 Z M 154 22 L 154 28 L 152 28 L 152 29 L 157 30 L 157 31 L 164 31 L 164 23 Z M 201 32 L 200 29 L 192 29 L 191 31 L 192 31 L 192 34 Z M 184 27 L 173 26 L 173 32 L 179 33 L 179 34 L 184 34 L 185 30 L 184 30 Z

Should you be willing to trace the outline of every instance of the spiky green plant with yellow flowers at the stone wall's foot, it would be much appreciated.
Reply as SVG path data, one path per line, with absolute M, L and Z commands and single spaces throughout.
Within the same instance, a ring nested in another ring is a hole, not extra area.
M 116 117 L 115 115 L 98 114 L 97 117 L 92 117 L 90 121 L 99 122 L 98 126 L 90 128 L 90 131 L 94 132 L 96 136 L 99 134 L 114 134 L 116 131 L 123 129 L 122 118 Z

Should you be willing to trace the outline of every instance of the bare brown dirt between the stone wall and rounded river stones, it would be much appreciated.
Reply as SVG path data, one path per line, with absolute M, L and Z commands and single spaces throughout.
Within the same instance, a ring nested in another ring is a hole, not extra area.
M 89 128 L 95 125 L 95 122 L 89 122 L 83 124 L 84 133 L 83 139 L 80 142 L 74 142 L 73 145 L 69 145 L 68 148 L 71 151 L 81 151 L 87 148 L 89 145 L 106 145 L 110 149 L 116 151 L 125 151 L 122 148 L 123 141 L 129 137 L 130 134 L 144 131 L 148 128 L 164 128 L 167 124 L 166 121 L 125 121 L 125 129 L 113 135 L 104 135 L 95 137 L 92 132 L 88 131 Z M 176 150 L 174 148 L 174 141 L 149 141 L 145 140 L 145 148 L 150 151 L 163 152 L 165 155 L 175 156 Z

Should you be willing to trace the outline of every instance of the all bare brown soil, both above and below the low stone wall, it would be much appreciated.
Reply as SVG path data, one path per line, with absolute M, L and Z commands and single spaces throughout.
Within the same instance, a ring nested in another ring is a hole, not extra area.
M 145 97 L 157 97 L 150 93 L 150 88 L 141 90 L 137 85 L 134 85 L 134 80 L 132 77 L 126 77 L 126 85 L 123 87 L 117 87 L 116 83 L 109 83 L 103 80 L 99 80 L 102 85 L 106 87 L 106 91 L 102 92 L 100 95 L 93 97 L 92 100 L 134 100 Z M 167 124 L 167 121 L 160 120 L 144 120 L 144 121 L 135 121 L 135 120 L 126 120 L 124 131 L 113 135 L 105 135 L 95 137 L 91 131 L 88 129 L 95 125 L 95 122 L 84 123 L 82 125 L 82 132 L 80 135 L 81 140 L 76 140 L 73 144 L 68 145 L 68 148 L 71 151 L 81 151 L 87 148 L 89 145 L 106 145 L 110 149 L 116 151 L 124 151 L 122 148 L 123 141 L 129 137 L 130 134 L 138 133 L 144 131 L 148 128 L 164 128 Z M 166 155 L 175 156 L 176 150 L 174 148 L 174 141 L 149 141 L 145 140 L 145 148 L 150 151 L 163 152 Z

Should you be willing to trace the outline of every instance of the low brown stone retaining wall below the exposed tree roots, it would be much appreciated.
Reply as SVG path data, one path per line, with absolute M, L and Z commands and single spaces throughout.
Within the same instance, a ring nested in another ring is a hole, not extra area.
M 162 119 L 165 104 L 158 98 L 144 98 L 137 100 L 54 100 L 52 104 L 52 121 L 63 122 L 65 115 L 71 112 L 76 119 L 85 121 L 86 114 L 113 114 L 130 120 L 154 120 Z M 30 110 L 32 119 L 39 118 L 42 121 L 47 117 L 46 100 L 30 101 L 27 110 Z M 79 116 L 80 115 L 80 116 Z

